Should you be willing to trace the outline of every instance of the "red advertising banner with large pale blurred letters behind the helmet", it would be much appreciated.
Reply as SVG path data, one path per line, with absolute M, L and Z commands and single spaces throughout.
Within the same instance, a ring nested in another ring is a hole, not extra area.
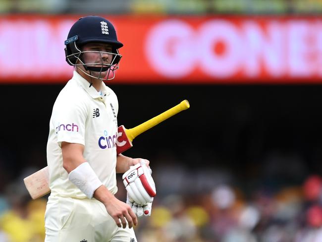
M 0 82 L 66 82 L 79 16 L 1 16 Z M 322 83 L 322 17 L 105 16 L 124 44 L 112 83 Z

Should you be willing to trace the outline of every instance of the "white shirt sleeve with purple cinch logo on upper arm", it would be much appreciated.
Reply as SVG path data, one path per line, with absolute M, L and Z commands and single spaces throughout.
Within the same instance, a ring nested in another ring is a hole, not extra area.
M 84 103 L 62 103 L 56 107 L 53 115 L 59 146 L 63 141 L 85 145 L 87 109 Z

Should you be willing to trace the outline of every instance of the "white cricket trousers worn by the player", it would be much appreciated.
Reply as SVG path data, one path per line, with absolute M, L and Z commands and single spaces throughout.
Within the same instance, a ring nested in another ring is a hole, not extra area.
M 134 230 L 117 227 L 96 199 L 50 196 L 45 242 L 137 242 Z

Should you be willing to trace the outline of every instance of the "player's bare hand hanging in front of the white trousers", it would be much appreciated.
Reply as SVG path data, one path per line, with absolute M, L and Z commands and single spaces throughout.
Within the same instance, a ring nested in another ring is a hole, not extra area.
M 116 197 L 112 197 L 107 204 L 105 204 L 107 213 L 114 219 L 118 227 L 125 229 L 126 221 L 128 222 L 129 228 L 131 229 L 133 225 L 138 224 L 138 219 L 132 208 L 118 200 Z M 121 221 L 121 222 L 120 222 Z

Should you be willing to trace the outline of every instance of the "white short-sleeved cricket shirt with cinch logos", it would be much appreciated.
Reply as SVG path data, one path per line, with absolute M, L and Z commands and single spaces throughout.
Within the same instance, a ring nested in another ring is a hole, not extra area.
M 47 143 L 47 163 L 52 195 L 85 198 L 68 180 L 62 167 L 61 142 L 85 146 L 83 156 L 101 182 L 115 194 L 116 135 L 118 102 L 115 93 L 102 82 L 102 95 L 80 74 L 60 91 L 53 107 Z

